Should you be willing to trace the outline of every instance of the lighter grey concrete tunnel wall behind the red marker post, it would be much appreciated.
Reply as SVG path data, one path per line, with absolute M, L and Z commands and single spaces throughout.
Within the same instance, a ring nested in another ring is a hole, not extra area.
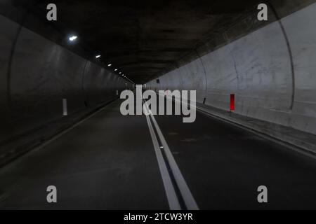
M 312 3 L 146 87 L 197 90 L 197 102 L 225 111 L 235 94 L 235 113 L 316 134 L 315 27 Z

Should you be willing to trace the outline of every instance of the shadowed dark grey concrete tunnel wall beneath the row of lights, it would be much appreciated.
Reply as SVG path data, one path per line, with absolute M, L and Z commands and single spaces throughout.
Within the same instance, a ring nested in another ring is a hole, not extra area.
M 110 102 L 126 80 L 0 15 L 0 143 Z M 129 83 L 130 84 L 130 83 Z

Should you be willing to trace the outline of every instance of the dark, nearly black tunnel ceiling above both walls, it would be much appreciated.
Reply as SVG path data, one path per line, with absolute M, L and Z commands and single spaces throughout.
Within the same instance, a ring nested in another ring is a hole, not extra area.
M 77 34 L 100 60 L 112 64 L 135 83 L 146 83 L 194 50 L 212 32 L 236 16 L 256 9 L 258 1 L 33 1 L 41 12 L 58 7 L 56 27 Z

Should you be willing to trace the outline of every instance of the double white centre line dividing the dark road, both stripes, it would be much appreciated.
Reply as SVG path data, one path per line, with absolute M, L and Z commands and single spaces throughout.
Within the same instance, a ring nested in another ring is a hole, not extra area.
M 185 183 L 185 179 L 183 179 L 183 176 L 178 165 L 176 164 L 176 161 L 173 158 L 170 148 L 166 143 L 166 139 L 164 139 L 162 131 L 160 130 L 157 121 L 152 115 L 152 111 L 150 111 L 150 109 L 148 108 L 147 103 L 145 101 L 143 102 L 145 105 L 144 110 L 146 112 L 145 115 L 147 124 L 150 130 L 150 135 L 152 137 L 152 143 L 154 144 L 154 151 L 158 160 L 160 174 L 162 175 L 164 189 L 166 190 L 166 197 L 169 203 L 169 208 L 171 210 L 199 209 L 199 207 L 197 207 L 195 199 L 192 196 L 192 193 L 190 192 L 190 189 L 187 187 L 187 183 Z M 154 132 L 152 124 L 156 129 L 158 137 Z M 159 145 L 158 139 L 161 145 Z M 170 170 L 168 169 L 167 165 L 169 165 Z M 181 202 L 184 202 L 184 206 Z

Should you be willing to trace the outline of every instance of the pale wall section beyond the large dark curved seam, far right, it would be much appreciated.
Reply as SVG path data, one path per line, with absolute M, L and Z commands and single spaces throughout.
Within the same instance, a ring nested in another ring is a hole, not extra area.
M 282 20 L 293 55 L 294 108 L 290 125 L 316 133 L 316 3 Z

